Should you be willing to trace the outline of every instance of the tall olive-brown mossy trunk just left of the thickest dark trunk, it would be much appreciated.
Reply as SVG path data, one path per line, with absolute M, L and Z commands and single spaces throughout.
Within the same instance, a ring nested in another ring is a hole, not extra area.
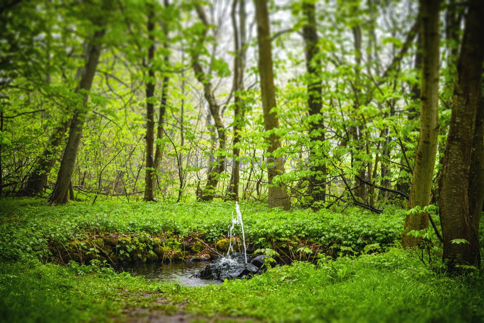
M 423 41 L 420 136 L 408 200 L 409 209 L 417 205 L 423 208 L 430 203 L 439 134 L 439 9 L 440 1 L 420 2 Z M 426 228 L 428 228 L 427 213 L 407 215 L 402 246 L 417 246 L 422 239 L 409 236 L 407 232 Z

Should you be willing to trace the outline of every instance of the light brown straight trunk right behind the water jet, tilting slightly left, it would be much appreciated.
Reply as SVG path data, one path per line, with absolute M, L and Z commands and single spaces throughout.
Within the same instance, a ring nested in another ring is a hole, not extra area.
M 274 77 L 272 73 L 271 32 L 269 30 L 269 13 L 267 0 L 254 0 L 257 19 L 257 43 L 259 49 L 258 67 L 260 74 L 260 92 L 262 96 L 262 110 L 264 114 L 264 126 L 267 131 L 279 128 L 279 120 L 275 112 L 276 107 Z M 274 158 L 275 163 L 268 165 L 267 173 L 269 180 L 269 207 L 282 206 L 284 210 L 290 209 L 290 199 L 286 189 L 279 183 L 272 184 L 277 175 L 284 174 L 283 158 L 274 156 L 274 151 L 280 148 L 279 136 L 273 131 L 269 136 L 269 148 L 267 152 Z M 275 164 L 275 165 L 273 165 Z

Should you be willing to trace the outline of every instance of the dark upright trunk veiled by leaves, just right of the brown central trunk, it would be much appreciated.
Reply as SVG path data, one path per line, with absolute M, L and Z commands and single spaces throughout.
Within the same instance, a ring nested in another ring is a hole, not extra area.
M 309 179 L 309 194 L 313 195 L 314 202 L 325 201 L 326 164 L 324 163 L 324 120 L 322 108 L 322 84 L 320 79 L 321 60 L 318 58 L 318 32 L 316 31 L 315 4 L 313 1 L 302 3 L 303 13 L 307 23 L 302 28 L 304 37 L 304 52 L 306 54 L 306 70 L 309 74 L 307 85 L 309 115 L 312 121 L 309 127 L 309 136 L 314 145 L 311 149 L 312 175 Z

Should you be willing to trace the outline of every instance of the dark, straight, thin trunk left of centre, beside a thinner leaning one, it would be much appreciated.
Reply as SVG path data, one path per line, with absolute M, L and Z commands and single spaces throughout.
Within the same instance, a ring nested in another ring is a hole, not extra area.
M 154 159 L 153 159 L 153 141 L 154 141 L 154 85 L 155 76 L 153 70 L 154 60 L 154 12 L 150 5 L 150 12 L 148 13 L 148 39 L 150 40 L 150 47 L 148 47 L 148 80 L 146 81 L 146 162 L 145 162 L 145 195 L 143 200 L 154 200 L 153 183 L 156 174 Z

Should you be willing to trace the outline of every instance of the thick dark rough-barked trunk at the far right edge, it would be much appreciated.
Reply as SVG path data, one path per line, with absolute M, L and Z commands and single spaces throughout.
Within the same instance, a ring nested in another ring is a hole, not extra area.
M 443 259 L 449 260 L 451 270 L 456 265 L 479 266 L 481 262 L 477 226 L 483 203 L 483 182 L 477 180 L 482 178 L 483 163 L 482 106 L 479 106 L 484 62 L 483 12 L 483 1 L 469 1 L 439 182 Z M 474 144 L 480 147 L 475 149 Z M 453 243 L 454 239 L 465 239 L 468 243 Z

